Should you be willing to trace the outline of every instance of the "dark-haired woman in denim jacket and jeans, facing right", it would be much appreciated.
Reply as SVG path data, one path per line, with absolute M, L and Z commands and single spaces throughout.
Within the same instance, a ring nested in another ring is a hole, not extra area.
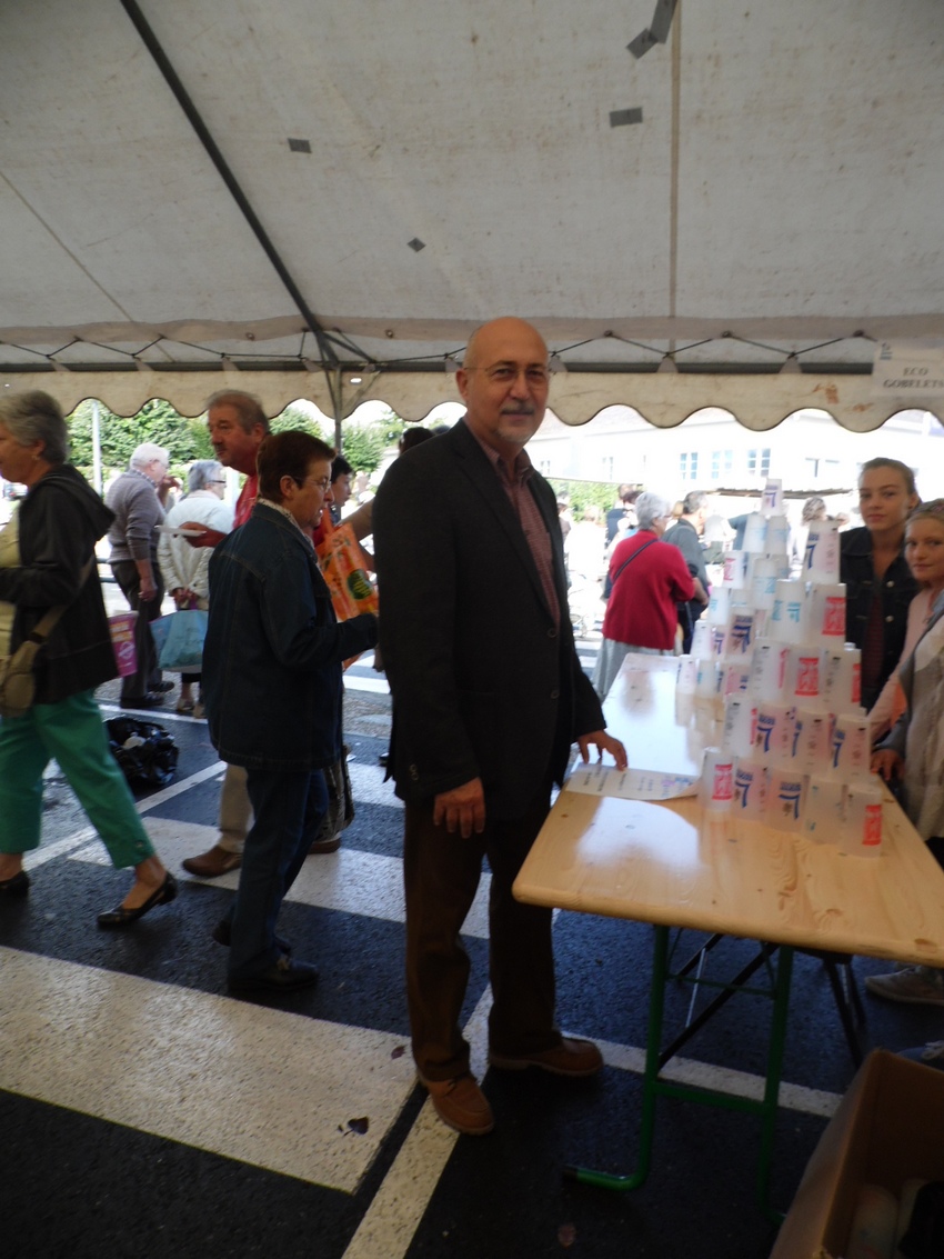
M 376 617 L 337 622 L 315 558 L 332 457 L 307 433 L 269 434 L 252 516 L 210 560 L 210 739 L 223 760 L 245 767 L 254 815 L 235 904 L 214 933 L 230 946 L 234 991 L 317 980 L 311 963 L 289 959 L 276 919 L 327 807 L 322 771 L 341 758 L 341 662 L 376 642 Z

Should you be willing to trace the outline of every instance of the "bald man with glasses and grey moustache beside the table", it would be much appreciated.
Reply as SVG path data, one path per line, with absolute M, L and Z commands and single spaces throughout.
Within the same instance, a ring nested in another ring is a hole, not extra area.
M 482 1136 L 459 930 L 488 857 L 490 1063 L 564 1076 L 602 1065 L 555 1022 L 551 913 L 511 885 L 570 747 L 626 765 L 574 648 L 554 491 L 524 447 L 548 403 L 530 324 L 478 329 L 456 375 L 466 414 L 385 473 L 374 505 L 380 645 L 393 692 L 390 773 L 405 802 L 407 996 L 413 1055 L 441 1119 Z

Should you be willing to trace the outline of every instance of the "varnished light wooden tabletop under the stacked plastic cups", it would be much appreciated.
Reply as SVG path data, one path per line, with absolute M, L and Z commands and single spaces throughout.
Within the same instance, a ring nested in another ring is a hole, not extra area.
M 697 773 L 720 731 L 675 694 L 671 657 L 628 656 L 605 704 L 629 765 Z M 833 845 L 704 811 L 564 788 L 517 880 L 524 901 L 798 948 L 944 967 L 944 871 L 891 796 L 882 850 Z

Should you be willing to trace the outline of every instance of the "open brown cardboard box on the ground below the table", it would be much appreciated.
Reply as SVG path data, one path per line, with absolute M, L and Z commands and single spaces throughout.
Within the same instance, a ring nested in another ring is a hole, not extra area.
M 944 1180 L 941 1133 L 944 1071 L 871 1053 L 807 1163 L 770 1259 L 838 1259 L 860 1186 L 897 1197 L 911 1177 Z

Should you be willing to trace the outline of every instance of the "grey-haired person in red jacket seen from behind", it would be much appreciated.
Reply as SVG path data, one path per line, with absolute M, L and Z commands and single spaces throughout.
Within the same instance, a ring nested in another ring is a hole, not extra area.
M 661 541 L 672 520 L 672 505 L 657 494 L 636 500 L 638 530 L 619 543 L 609 560 L 610 596 L 603 618 L 603 643 L 593 685 L 600 699 L 615 681 L 628 652 L 673 656 L 677 603 L 700 598 L 704 587 L 688 573 L 677 546 Z M 707 601 L 707 596 L 705 596 Z

